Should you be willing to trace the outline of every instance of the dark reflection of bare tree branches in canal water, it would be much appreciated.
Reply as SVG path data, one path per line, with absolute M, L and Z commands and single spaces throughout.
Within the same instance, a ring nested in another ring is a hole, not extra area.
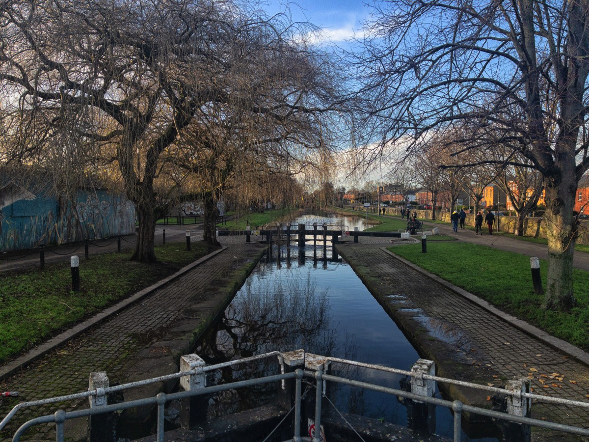
M 316 354 L 336 351 L 335 329 L 330 328 L 327 289 L 317 289 L 310 271 L 292 279 L 250 278 L 216 326 L 201 341 L 197 354 L 217 364 L 270 351 L 304 348 Z M 211 373 L 207 384 L 227 383 L 279 372 L 277 358 L 227 367 Z M 278 384 L 249 391 L 229 391 L 210 401 L 211 416 L 233 413 L 265 403 Z

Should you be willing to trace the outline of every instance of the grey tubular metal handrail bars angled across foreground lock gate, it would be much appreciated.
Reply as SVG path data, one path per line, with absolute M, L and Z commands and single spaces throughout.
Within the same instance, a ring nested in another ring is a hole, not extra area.
M 302 352 L 303 359 L 305 359 L 305 357 L 306 357 L 305 352 L 302 350 L 299 350 L 299 352 Z M 292 352 L 289 352 L 289 353 L 292 353 Z M 581 436 L 589 436 L 589 429 L 587 429 L 587 428 L 574 427 L 573 425 L 558 424 L 558 423 L 534 419 L 534 418 L 518 417 L 518 416 L 507 414 L 507 413 L 500 413 L 498 411 L 487 410 L 485 408 L 479 408 L 479 407 L 474 407 L 471 405 L 465 405 L 465 404 L 462 404 L 460 401 L 448 401 L 448 400 L 443 400 L 443 399 L 439 399 L 439 398 L 435 398 L 435 397 L 426 397 L 426 396 L 418 395 L 418 394 L 415 394 L 412 392 L 398 390 L 396 388 L 384 387 L 382 385 L 371 384 L 369 382 L 356 381 L 356 380 L 351 380 L 348 378 L 342 378 L 339 376 L 326 374 L 323 372 L 323 370 L 321 368 L 319 368 L 316 371 L 295 370 L 294 372 L 285 373 L 284 366 L 283 366 L 284 355 L 285 354 L 283 352 L 273 351 L 273 352 L 269 352 L 269 353 L 262 354 L 262 355 L 252 356 L 249 358 L 237 359 L 237 360 L 228 361 L 228 362 L 221 362 L 220 364 L 208 365 L 208 366 L 204 366 L 204 367 L 197 367 L 197 368 L 193 368 L 192 370 L 188 370 L 188 371 L 177 372 L 174 374 L 164 375 L 164 376 L 160 376 L 157 378 L 151 378 L 151 379 L 147 379 L 147 380 L 129 382 L 128 384 L 115 385 L 113 387 L 107 387 L 104 389 L 85 391 L 85 392 L 81 392 L 78 394 L 60 396 L 60 397 L 55 397 L 55 398 L 48 398 L 48 399 L 40 400 L 40 401 L 30 401 L 28 403 L 21 403 L 21 404 L 16 405 L 11 410 L 11 412 L 8 415 L 6 415 L 4 420 L 2 420 L 2 422 L 0 423 L 0 429 L 2 429 L 6 425 L 6 423 L 8 423 L 8 421 L 10 420 L 10 418 L 12 416 L 14 416 L 16 411 L 18 411 L 24 407 L 57 403 L 57 402 L 61 402 L 61 401 L 67 401 L 67 400 L 73 400 L 73 399 L 79 399 L 79 398 L 87 398 L 87 397 L 91 397 L 91 396 L 95 396 L 95 395 L 99 395 L 99 394 L 104 395 L 104 394 L 108 394 L 110 392 L 127 390 L 129 388 L 140 387 L 142 385 L 153 384 L 156 382 L 174 380 L 174 379 L 178 379 L 180 377 L 186 377 L 186 376 L 190 376 L 190 375 L 194 375 L 194 374 L 203 374 L 204 372 L 219 370 L 220 368 L 224 368 L 224 367 L 231 367 L 233 365 L 244 364 L 246 362 L 252 362 L 252 361 L 256 361 L 258 359 L 265 359 L 265 358 L 277 356 L 279 358 L 279 361 L 281 364 L 281 371 L 282 371 L 281 374 L 270 375 L 270 376 L 261 377 L 261 378 L 254 378 L 254 379 L 250 379 L 250 380 L 246 380 L 246 381 L 231 382 L 230 384 L 221 384 L 221 385 L 214 385 L 211 387 L 203 387 L 198 390 L 180 391 L 180 392 L 171 393 L 171 394 L 160 393 L 156 397 L 143 398 L 140 400 L 128 401 L 128 402 L 123 402 L 123 403 L 119 403 L 119 404 L 102 405 L 100 407 L 92 407 L 92 408 L 88 408 L 85 410 L 68 411 L 68 412 L 65 412 L 63 410 L 58 410 L 54 414 L 37 417 L 37 418 L 27 421 L 25 424 L 21 425 L 21 427 L 17 430 L 13 440 L 18 441 L 19 438 L 22 436 L 22 433 L 24 433 L 24 431 L 27 430 L 27 428 L 32 427 L 33 425 L 37 425 L 37 424 L 41 424 L 41 423 L 56 423 L 57 424 L 56 431 L 57 431 L 57 435 L 58 435 L 57 440 L 60 441 L 60 440 L 63 440 L 63 423 L 65 420 L 68 420 L 71 418 L 77 418 L 77 417 L 86 417 L 86 416 L 90 416 L 90 415 L 94 415 L 94 414 L 108 413 L 110 411 L 125 410 L 127 408 L 137 407 L 140 405 L 157 404 L 157 406 L 158 406 L 158 413 L 157 413 L 157 415 L 158 415 L 158 436 L 157 437 L 158 438 L 157 438 L 157 440 L 163 441 L 164 440 L 164 438 L 163 438 L 164 437 L 163 436 L 163 418 L 164 418 L 163 410 L 164 410 L 164 405 L 167 401 L 192 397 L 192 396 L 201 395 L 201 394 L 210 394 L 213 392 L 225 391 L 225 390 L 230 390 L 233 388 L 249 387 L 251 385 L 260 385 L 260 384 L 266 384 L 266 383 L 275 382 L 275 381 L 284 381 L 284 380 L 287 380 L 290 378 L 296 378 L 297 382 L 300 382 L 303 377 L 315 378 L 317 380 L 317 385 L 319 385 L 320 382 L 323 382 L 323 381 L 337 382 L 340 384 L 351 385 L 353 387 L 359 387 L 359 388 L 365 388 L 365 389 L 373 390 L 373 391 L 385 392 L 386 394 L 393 394 L 393 395 L 397 395 L 397 396 L 400 396 L 403 398 L 409 398 L 412 400 L 420 401 L 422 403 L 441 405 L 441 406 L 444 406 L 447 408 L 451 408 L 454 411 L 454 440 L 455 441 L 460 440 L 460 434 L 461 434 L 460 425 L 461 425 L 461 416 L 462 416 L 463 412 L 478 414 L 478 415 L 482 415 L 485 417 L 491 417 L 491 418 L 500 419 L 500 420 L 504 420 L 504 421 L 510 421 L 510 422 L 519 423 L 519 424 L 531 425 L 534 427 L 548 428 L 548 429 L 557 430 L 557 431 L 565 431 L 567 433 L 579 434 Z M 346 365 L 351 365 L 353 367 L 368 368 L 370 370 L 378 370 L 378 371 L 383 371 L 383 372 L 389 372 L 392 374 L 405 375 L 405 376 L 409 376 L 409 377 L 419 377 L 423 380 L 432 380 L 432 381 L 436 381 L 436 382 L 442 382 L 445 384 L 461 385 L 463 387 L 476 388 L 478 390 L 501 393 L 506 396 L 511 395 L 511 396 L 515 397 L 516 395 L 518 395 L 519 397 L 530 398 L 533 400 L 540 400 L 540 401 L 544 401 L 544 402 L 548 402 L 548 403 L 573 405 L 573 406 L 578 406 L 578 407 L 583 407 L 583 408 L 589 408 L 589 403 L 583 402 L 583 401 L 567 400 L 564 398 L 554 398 L 554 397 L 548 397 L 545 395 L 538 395 L 538 394 L 532 394 L 532 393 L 527 393 L 527 392 L 514 392 L 514 391 L 504 390 L 502 388 L 490 387 L 488 385 L 479 385 L 479 384 L 474 384 L 472 382 L 452 380 L 452 379 L 448 379 L 448 378 L 438 377 L 435 375 L 428 375 L 428 374 L 417 373 L 417 372 L 413 372 L 413 371 L 400 370 L 400 369 L 390 368 L 390 367 L 383 367 L 382 365 L 367 364 L 365 362 L 350 361 L 349 359 L 332 358 L 332 357 L 322 357 L 322 359 L 323 359 L 323 361 L 325 361 L 321 365 L 322 367 L 326 367 L 328 363 L 346 364 Z M 98 390 L 101 390 L 101 391 L 98 391 Z M 317 425 L 317 427 L 319 427 L 319 423 L 320 423 L 320 407 L 321 407 L 321 400 L 322 400 L 322 391 L 323 391 L 322 388 L 318 388 L 316 391 L 316 407 L 317 407 L 317 409 L 316 409 L 316 425 Z M 300 384 L 297 384 L 297 395 L 296 395 L 295 400 L 296 400 L 297 407 L 299 407 L 296 409 L 295 415 L 300 416 Z M 297 427 L 298 426 L 295 425 L 294 431 L 298 431 Z M 299 438 L 299 440 L 300 440 L 300 438 Z

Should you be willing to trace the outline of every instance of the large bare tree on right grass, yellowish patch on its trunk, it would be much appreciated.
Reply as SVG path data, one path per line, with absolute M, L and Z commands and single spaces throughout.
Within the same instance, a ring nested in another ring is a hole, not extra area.
M 550 258 L 542 306 L 570 309 L 574 196 L 589 166 L 580 131 L 587 123 L 589 2 L 394 0 L 377 3 L 372 18 L 366 35 L 373 38 L 358 65 L 361 94 L 376 104 L 370 115 L 380 146 L 403 140 L 419 149 L 432 128 L 465 119 L 481 128 L 471 149 L 494 149 L 495 140 L 485 138 L 489 125 L 506 138 L 515 134 L 514 149 L 541 173 L 545 189 Z

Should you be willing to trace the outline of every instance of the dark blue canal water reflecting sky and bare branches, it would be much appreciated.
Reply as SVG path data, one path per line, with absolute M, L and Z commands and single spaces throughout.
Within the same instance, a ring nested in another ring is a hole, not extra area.
M 306 225 L 314 222 L 319 226 L 343 225 L 346 230 L 365 228 L 364 219 L 359 217 L 306 216 L 296 220 Z M 307 240 L 305 248 L 273 246 L 220 321 L 201 340 L 196 353 L 207 364 L 217 364 L 295 349 L 402 370 L 411 370 L 420 357 L 348 263 L 334 252 L 330 242 L 324 248 L 320 240 L 316 246 Z M 342 370 L 337 368 L 335 374 L 386 387 L 399 388 L 403 382 L 399 375 L 359 368 Z M 272 358 L 226 368 L 207 382 L 231 382 L 276 372 L 279 372 L 277 359 Z M 210 401 L 209 414 L 216 417 L 252 408 L 275 401 L 275 395 L 275 385 L 226 392 Z M 439 392 L 436 395 L 441 397 Z M 342 413 L 398 425 L 408 423 L 405 405 L 391 395 L 338 385 L 329 398 Z M 436 434 L 452 437 L 452 416 L 446 408 L 436 408 L 432 424 Z M 464 440 L 497 439 L 464 435 Z

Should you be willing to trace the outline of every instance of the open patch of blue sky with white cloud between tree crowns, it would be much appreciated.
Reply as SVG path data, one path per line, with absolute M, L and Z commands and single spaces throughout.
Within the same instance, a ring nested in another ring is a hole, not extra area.
M 266 11 L 274 14 L 290 9 L 293 21 L 308 21 L 323 29 L 326 37 L 339 46 L 360 31 L 368 14 L 363 0 L 297 0 L 284 2 L 266 0 Z

